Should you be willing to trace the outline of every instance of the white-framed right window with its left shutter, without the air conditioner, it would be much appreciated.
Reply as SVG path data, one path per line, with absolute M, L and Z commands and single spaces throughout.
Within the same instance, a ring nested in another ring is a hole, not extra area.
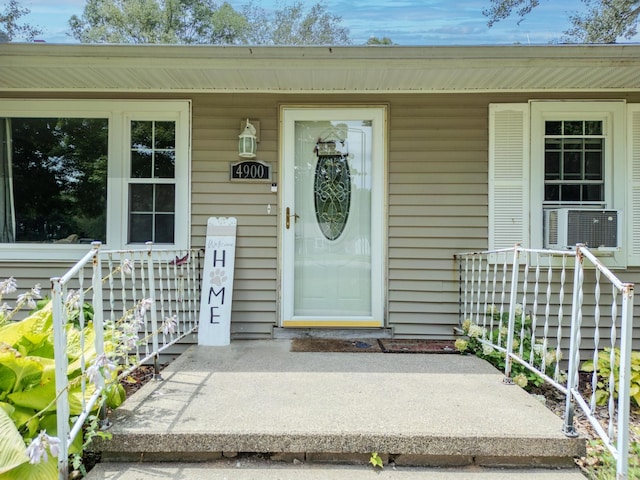
M 607 209 L 621 211 L 624 226 L 622 248 L 607 253 L 605 263 L 636 261 L 627 258 L 632 241 L 624 232 L 633 215 L 627 195 L 632 163 L 625 140 L 628 108 L 622 101 L 491 105 L 490 249 L 515 243 L 543 248 L 545 212 Z M 640 233 L 640 219 L 636 223 L 630 231 Z

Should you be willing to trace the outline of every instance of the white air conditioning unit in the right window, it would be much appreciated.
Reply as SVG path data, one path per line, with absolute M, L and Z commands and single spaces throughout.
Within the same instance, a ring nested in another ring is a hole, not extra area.
M 593 250 L 620 248 L 620 211 L 558 208 L 544 212 L 544 247 L 574 249 L 582 243 Z

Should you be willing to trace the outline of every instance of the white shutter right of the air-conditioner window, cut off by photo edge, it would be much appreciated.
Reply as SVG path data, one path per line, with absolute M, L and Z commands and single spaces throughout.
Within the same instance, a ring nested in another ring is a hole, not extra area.
M 627 234 L 628 265 L 640 265 L 640 105 L 629 105 L 629 199 L 623 220 L 629 226 Z

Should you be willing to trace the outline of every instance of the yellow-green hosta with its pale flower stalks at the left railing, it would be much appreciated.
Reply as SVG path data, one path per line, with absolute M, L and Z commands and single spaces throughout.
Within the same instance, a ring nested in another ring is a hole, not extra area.
M 0 281 L 0 303 L 3 295 L 16 289 L 13 278 Z M 56 457 L 62 440 L 57 438 L 53 308 L 50 300 L 36 299 L 37 287 L 19 295 L 14 309 L 5 303 L 0 310 L 0 480 L 53 480 L 58 476 Z M 31 313 L 13 321 L 16 311 L 25 305 L 33 308 Z M 114 360 L 126 358 L 133 346 L 144 341 L 137 332 L 149 306 L 149 300 L 141 300 L 119 321 L 107 322 L 105 353 L 97 355 L 91 306 L 82 305 L 84 321 L 80 322 L 78 292 L 70 291 L 65 301 L 69 321 L 65 326 L 68 368 L 64 393 L 69 396 L 71 417 L 82 412 L 99 378 L 105 385 L 84 434 L 74 439 L 69 451 L 72 464 L 80 471 L 83 451 L 91 440 L 110 437 L 100 430 L 97 414 L 103 405 L 116 408 L 124 401 L 124 388 L 118 382 L 122 367 Z

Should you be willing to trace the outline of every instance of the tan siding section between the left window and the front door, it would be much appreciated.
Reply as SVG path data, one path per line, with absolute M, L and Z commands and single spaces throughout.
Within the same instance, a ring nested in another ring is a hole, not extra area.
M 238 221 L 232 338 L 269 338 L 277 324 L 279 194 L 271 183 L 230 182 L 239 160 L 238 135 L 247 117 L 260 121 L 257 160 L 271 163 L 278 181 L 277 106 L 272 96 L 193 97 L 192 245 L 205 243 L 209 217 Z

